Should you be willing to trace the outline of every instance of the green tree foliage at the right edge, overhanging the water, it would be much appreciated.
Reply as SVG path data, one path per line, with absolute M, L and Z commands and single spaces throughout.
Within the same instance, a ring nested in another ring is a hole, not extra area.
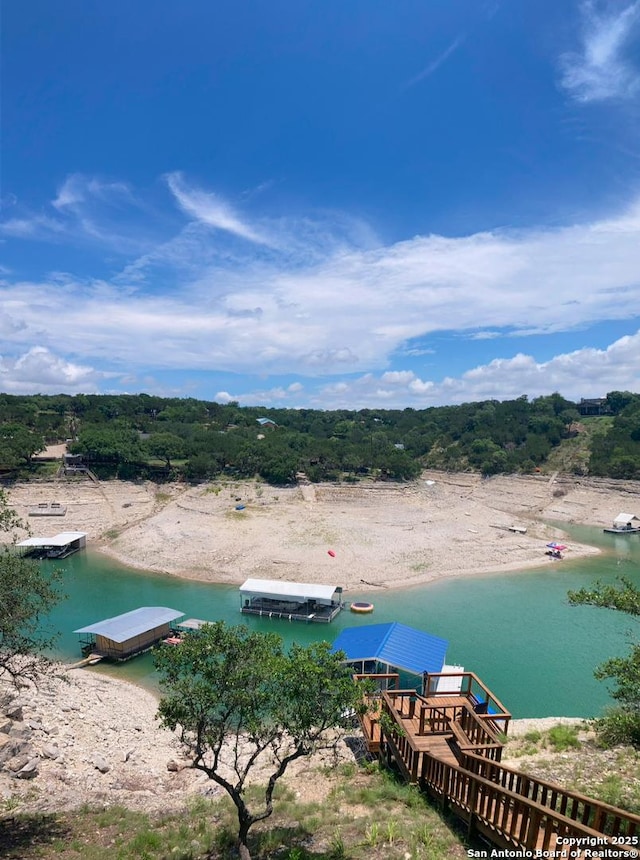
M 617 585 L 596 582 L 591 588 L 570 591 L 574 605 L 601 606 L 640 615 L 640 590 L 626 577 Z M 607 744 L 631 743 L 640 746 L 640 645 L 634 644 L 627 657 L 605 660 L 594 671 L 600 681 L 613 681 L 612 697 L 618 703 L 596 721 L 596 730 Z

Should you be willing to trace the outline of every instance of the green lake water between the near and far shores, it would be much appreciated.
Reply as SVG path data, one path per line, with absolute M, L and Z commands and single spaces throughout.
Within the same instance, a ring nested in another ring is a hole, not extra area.
M 640 621 L 569 606 L 566 594 L 621 574 L 640 586 L 640 536 L 577 527 L 569 534 L 568 543 L 584 541 L 603 553 L 576 562 L 546 562 L 534 571 L 450 578 L 401 591 L 349 592 L 349 600 L 373 602 L 374 614 L 343 612 L 330 625 L 241 616 L 236 586 L 141 573 L 95 553 L 79 553 L 56 564 L 68 595 L 51 616 L 60 631 L 56 656 L 77 659 L 73 630 L 138 606 L 170 606 L 196 618 L 242 622 L 302 644 L 333 640 L 344 627 L 401 621 L 447 639 L 448 662 L 476 672 L 516 717 L 595 716 L 610 698 L 606 686 L 593 678 L 593 668 L 627 653 L 631 639 L 640 637 Z M 150 655 L 90 671 L 155 684 Z

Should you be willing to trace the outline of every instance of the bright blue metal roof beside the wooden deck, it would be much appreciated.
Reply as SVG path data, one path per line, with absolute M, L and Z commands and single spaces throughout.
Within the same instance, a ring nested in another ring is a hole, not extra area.
M 423 633 L 394 621 L 348 627 L 333 643 L 334 651 L 344 651 L 347 660 L 377 660 L 415 675 L 440 672 L 449 643 L 439 636 Z

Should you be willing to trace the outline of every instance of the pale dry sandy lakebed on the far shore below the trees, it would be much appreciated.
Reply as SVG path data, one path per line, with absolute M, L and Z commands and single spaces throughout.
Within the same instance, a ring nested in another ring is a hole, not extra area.
M 609 526 L 622 511 L 640 514 L 635 482 L 540 475 L 425 473 L 405 485 L 287 488 L 85 479 L 16 484 L 7 493 L 33 535 L 83 531 L 90 549 L 132 567 L 211 582 L 260 577 L 346 591 L 559 564 L 545 545 L 564 540 L 562 523 Z M 66 506 L 65 516 L 29 516 L 43 501 Z M 594 552 L 570 542 L 565 556 Z

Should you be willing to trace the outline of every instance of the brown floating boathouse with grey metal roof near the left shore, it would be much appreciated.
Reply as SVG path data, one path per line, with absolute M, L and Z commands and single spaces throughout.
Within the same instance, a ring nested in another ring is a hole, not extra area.
M 169 636 L 171 622 L 183 615 L 167 606 L 141 606 L 73 632 L 80 636 L 84 654 L 127 660 Z

